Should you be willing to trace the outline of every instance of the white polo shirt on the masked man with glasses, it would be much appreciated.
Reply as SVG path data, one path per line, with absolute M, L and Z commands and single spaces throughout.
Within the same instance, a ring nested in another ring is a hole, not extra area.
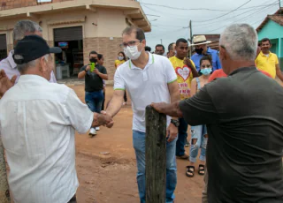
M 167 57 L 149 54 L 149 63 L 142 70 L 131 60 L 115 72 L 114 90 L 125 90 L 131 97 L 134 111 L 133 130 L 145 132 L 145 108 L 152 102 L 170 103 L 168 84 L 177 79 Z M 167 125 L 171 117 L 167 117 Z

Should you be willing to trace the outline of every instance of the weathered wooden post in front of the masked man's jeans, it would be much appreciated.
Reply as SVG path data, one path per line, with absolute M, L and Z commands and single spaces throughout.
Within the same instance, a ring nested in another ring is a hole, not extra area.
M 146 202 L 166 200 L 166 116 L 146 108 Z

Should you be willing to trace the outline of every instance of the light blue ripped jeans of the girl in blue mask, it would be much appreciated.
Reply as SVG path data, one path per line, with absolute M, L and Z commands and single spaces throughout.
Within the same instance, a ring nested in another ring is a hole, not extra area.
M 189 161 L 196 162 L 196 156 L 198 154 L 199 148 L 201 148 L 200 160 L 205 162 L 205 153 L 207 139 L 204 136 L 207 135 L 206 125 L 196 125 L 191 127 L 192 140 L 196 139 L 195 144 L 191 142 L 191 147 L 189 149 Z

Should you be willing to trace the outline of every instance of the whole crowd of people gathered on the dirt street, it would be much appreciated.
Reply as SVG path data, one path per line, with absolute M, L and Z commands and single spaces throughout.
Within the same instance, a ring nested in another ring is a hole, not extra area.
M 42 28 L 21 20 L 13 30 L 14 49 L 0 62 L 0 132 L 14 202 L 76 202 L 74 132 L 94 137 L 111 128 L 131 97 L 133 144 L 140 202 L 146 202 L 145 108 L 167 115 L 166 203 L 175 199 L 176 158 L 188 160 L 187 177 L 204 176 L 203 203 L 283 202 L 283 80 L 267 38 L 257 44 L 248 24 L 227 26 L 219 51 L 204 35 L 189 44 L 146 46 L 142 29 L 126 27 L 115 61 L 114 93 L 107 107 L 103 55 L 89 53 L 80 69 L 85 102 L 54 77 Z M 195 54 L 188 57 L 188 49 Z M 20 77 L 19 77 L 20 76 Z M 189 154 L 187 130 L 191 126 Z M 28 195 L 27 195 L 28 194 Z

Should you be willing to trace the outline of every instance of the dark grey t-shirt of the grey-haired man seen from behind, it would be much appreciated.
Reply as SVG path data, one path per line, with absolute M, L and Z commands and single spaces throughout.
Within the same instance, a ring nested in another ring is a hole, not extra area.
M 274 79 L 246 67 L 180 102 L 188 124 L 207 124 L 209 202 L 283 202 L 282 101 Z

